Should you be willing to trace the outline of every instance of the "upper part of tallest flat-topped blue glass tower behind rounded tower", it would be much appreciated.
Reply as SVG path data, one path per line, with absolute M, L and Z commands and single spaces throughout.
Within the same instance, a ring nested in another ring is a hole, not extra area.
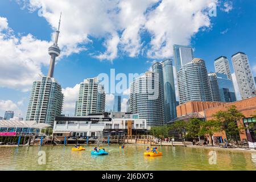
M 176 72 L 178 72 L 183 65 L 190 63 L 194 58 L 195 56 L 192 47 L 174 45 L 174 63 Z

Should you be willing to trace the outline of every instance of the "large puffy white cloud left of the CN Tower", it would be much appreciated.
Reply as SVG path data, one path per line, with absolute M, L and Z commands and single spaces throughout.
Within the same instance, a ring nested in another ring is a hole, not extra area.
M 48 46 L 48 42 L 31 34 L 17 38 L 7 19 L 0 17 L 1 87 L 30 89 L 32 82 L 42 73 L 41 65 L 48 64 L 49 60 L 45 59 Z

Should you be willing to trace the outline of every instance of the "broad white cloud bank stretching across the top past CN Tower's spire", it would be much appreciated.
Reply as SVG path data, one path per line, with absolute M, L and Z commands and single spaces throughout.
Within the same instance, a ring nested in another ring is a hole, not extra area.
M 22 3 L 23 2 L 23 3 Z M 105 52 L 94 55 L 100 60 L 114 60 L 119 52 L 130 57 L 145 49 L 148 57 L 172 56 L 173 44 L 189 44 L 191 36 L 210 27 L 209 7 L 218 0 L 48 0 L 20 1 L 30 11 L 38 10 L 56 27 L 59 14 L 61 46 L 72 53 L 80 45 L 92 43 L 91 37 L 104 40 Z M 76 10 L 74 13 L 73 10 Z M 72 23 L 71 23 L 72 22 Z M 72 26 L 71 26 L 72 25 Z M 144 45 L 142 35 L 149 32 L 151 42 Z M 148 48 L 148 50 L 147 50 Z M 67 53 L 67 54 L 68 54 Z

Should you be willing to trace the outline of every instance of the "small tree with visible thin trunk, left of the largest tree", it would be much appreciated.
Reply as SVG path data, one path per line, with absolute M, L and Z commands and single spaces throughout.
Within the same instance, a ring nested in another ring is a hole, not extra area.
M 221 131 L 221 122 L 216 120 L 209 120 L 201 122 L 199 135 L 209 135 L 211 144 L 213 146 L 212 136 L 216 132 Z

